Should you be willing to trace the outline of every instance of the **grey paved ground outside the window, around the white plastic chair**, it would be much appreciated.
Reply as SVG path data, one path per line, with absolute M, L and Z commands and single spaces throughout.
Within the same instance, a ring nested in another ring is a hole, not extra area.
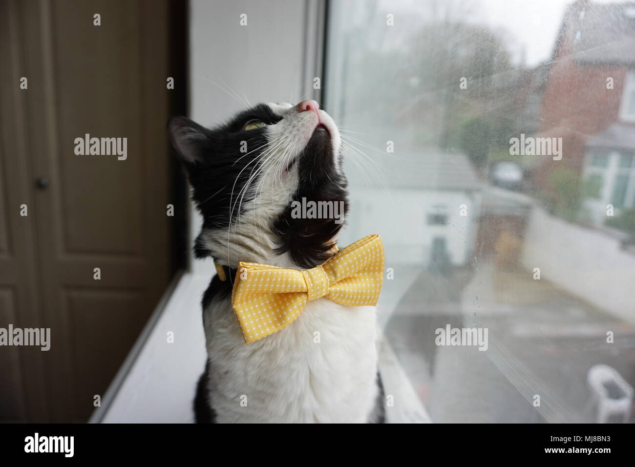
M 419 270 L 388 299 L 386 340 L 434 423 L 592 422 L 586 378 L 596 363 L 635 386 L 635 327 L 530 271 Z M 488 349 L 437 346 L 435 330 L 448 324 L 488 328 Z

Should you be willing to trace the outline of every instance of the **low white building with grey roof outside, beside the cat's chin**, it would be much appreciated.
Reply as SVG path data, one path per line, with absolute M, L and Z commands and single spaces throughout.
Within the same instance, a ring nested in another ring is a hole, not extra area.
M 384 179 L 389 191 L 378 185 L 351 191 L 342 244 L 375 232 L 382 219 L 387 267 L 430 267 L 439 257 L 466 266 L 481 211 L 481 182 L 467 156 L 433 147 L 400 151 Z

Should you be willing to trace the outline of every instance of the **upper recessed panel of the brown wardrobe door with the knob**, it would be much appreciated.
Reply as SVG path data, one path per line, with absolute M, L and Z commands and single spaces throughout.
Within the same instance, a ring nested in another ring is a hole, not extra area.
M 141 253 L 144 184 L 139 175 L 147 154 L 140 139 L 144 102 L 139 5 L 79 2 L 72 9 L 63 2 L 50 5 L 58 136 L 51 163 L 60 168 L 57 187 L 51 189 L 56 189 L 55 210 L 63 216 L 57 248 L 70 261 L 84 255 L 126 259 Z M 93 25 L 95 13 L 102 15 L 101 26 Z M 74 141 L 86 133 L 127 137 L 128 158 L 77 156 Z M 104 231 L 104 219 L 117 222 L 109 222 Z M 70 259 L 68 254 L 79 257 Z

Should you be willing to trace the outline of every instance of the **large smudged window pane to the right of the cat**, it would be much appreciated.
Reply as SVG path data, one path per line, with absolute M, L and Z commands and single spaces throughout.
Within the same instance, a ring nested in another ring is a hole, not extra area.
M 372 206 L 342 243 L 382 235 L 382 345 L 434 422 L 603 422 L 597 365 L 615 375 L 604 387 L 635 386 L 628 15 L 606 1 L 330 3 L 324 103 L 351 205 Z M 609 56 L 629 77 L 622 99 L 598 93 Z M 495 184 L 501 162 L 529 175 Z M 604 227 L 611 200 L 622 238 Z

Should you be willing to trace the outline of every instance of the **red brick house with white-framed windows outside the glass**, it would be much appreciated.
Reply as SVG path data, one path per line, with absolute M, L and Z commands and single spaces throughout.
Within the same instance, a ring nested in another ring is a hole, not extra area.
M 577 0 L 556 39 L 540 109 L 540 136 L 563 138 L 563 159 L 545 159 L 533 185 L 549 173 L 582 175 L 589 220 L 600 224 L 606 205 L 632 207 L 635 196 L 635 3 Z M 548 189 L 548 188 L 547 188 Z

